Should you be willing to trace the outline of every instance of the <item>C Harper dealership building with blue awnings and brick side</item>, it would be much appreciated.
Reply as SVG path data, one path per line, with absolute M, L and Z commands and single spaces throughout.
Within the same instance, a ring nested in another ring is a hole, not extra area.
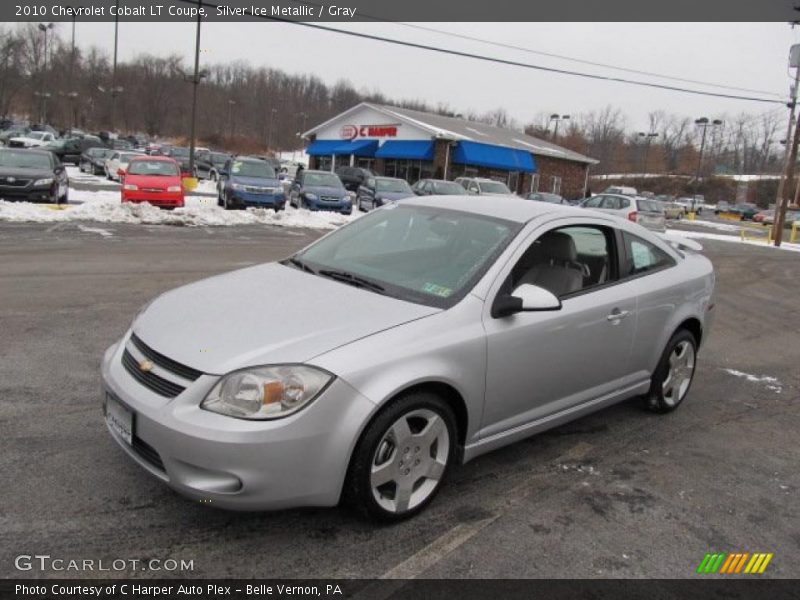
M 303 134 L 312 169 L 366 167 L 409 183 L 489 177 L 512 191 L 586 193 L 598 161 L 511 129 L 362 102 Z

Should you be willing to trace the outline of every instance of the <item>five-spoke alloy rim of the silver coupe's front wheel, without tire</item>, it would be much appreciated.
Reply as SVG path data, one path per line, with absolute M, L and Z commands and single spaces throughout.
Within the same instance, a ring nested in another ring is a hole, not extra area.
M 370 486 L 384 510 L 400 514 L 427 500 L 439 485 L 450 453 L 450 434 L 436 412 L 420 408 L 397 419 L 371 461 Z

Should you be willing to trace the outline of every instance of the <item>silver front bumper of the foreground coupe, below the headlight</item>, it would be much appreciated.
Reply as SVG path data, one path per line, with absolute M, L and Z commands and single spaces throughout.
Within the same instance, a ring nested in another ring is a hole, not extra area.
M 175 398 L 159 396 L 121 363 L 124 340 L 106 351 L 104 399 L 134 412 L 133 444 L 114 440 L 151 475 L 204 504 L 232 510 L 334 506 L 363 425 L 375 405 L 341 379 L 300 412 L 248 421 L 200 408 L 219 379 L 201 375 Z M 105 401 L 105 400 L 104 400 Z

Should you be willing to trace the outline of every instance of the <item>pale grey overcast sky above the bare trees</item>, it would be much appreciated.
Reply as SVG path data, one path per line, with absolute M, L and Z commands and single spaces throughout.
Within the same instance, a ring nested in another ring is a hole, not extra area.
M 431 23 L 420 24 L 532 50 L 566 55 L 629 69 L 652 71 L 786 95 L 789 47 L 800 42 L 800 28 L 786 23 Z M 59 25 L 69 36 L 69 24 Z M 614 75 L 610 71 L 516 50 L 420 31 L 393 23 L 332 23 L 332 27 L 364 31 L 443 48 L 486 54 L 520 62 Z M 78 23 L 77 43 L 95 45 L 109 54 L 113 23 Z M 141 53 L 177 53 L 190 62 L 194 24 L 120 23 L 121 60 Z M 646 128 L 654 109 L 691 117 L 721 113 L 779 112 L 777 104 L 736 101 L 640 88 L 620 83 L 555 75 L 468 58 L 317 31 L 286 23 L 205 23 L 203 60 L 244 60 L 290 73 L 316 75 L 326 83 L 349 80 L 356 88 L 377 90 L 391 98 L 446 103 L 459 111 L 485 112 L 504 107 L 520 122 L 538 112 L 578 114 L 613 105 L 628 117 L 631 129 Z M 652 80 L 652 79 L 651 79 Z M 700 88 L 697 84 L 670 82 Z M 709 88 L 705 88 L 709 89 Z M 753 95 L 734 90 L 724 93 Z M 311 125 L 311 124 L 309 124 Z

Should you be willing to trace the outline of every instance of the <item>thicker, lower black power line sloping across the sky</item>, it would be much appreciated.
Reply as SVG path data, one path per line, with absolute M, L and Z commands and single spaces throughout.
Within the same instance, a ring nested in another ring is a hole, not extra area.
M 181 2 L 184 2 L 186 4 L 196 4 L 196 2 L 193 1 L 193 0 L 181 0 Z M 205 5 L 209 6 L 211 8 L 217 8 L 217 5 L 211 4 L 210 2 L 205 3 Z M 582 73 L 580 71 L 571 71 L 571 70 L 568 70 L 568 69 L 557 69 L 555 67 L 546 67 L 544 65 L 535 65 L 535 64 L 523 63 L 523 62 L 519 62 L 519 61 L 515 61 L 515 60 L 508 60 L 508 59 L 503 59 L 503 58 L 485 56 L 485 55 L 482 55 L 482 54 L 473 54 L 471 52 L 463 52 L 461 50 L 448 50 L 448 49 L 445 49 L 445 48 L 437 48 L 436 46 L 429 46 L 427 44 L 419 44 L 419 43 L 416 43 L 416 42 L 406 42 L 406 41 L 396 40 L 396 39 L 387 38 L 387 37 L 379 36 L 379 35 L 372 35 L 372 34 L 368 34 L 368 33 L 360 33 L 360 32 L 356 32 L 356 31 L 346 31 L 346 30 L 343 30 L 343 29 L 336 29 L 335 27 L 327 27 L 325 25 L 319 25 L 319 24 L 316 24 L 316 23 L 307 23 L 307 22 L 304 22 L 304 21 L 293 21 L 291 19 L 284 19 L 284 18 L 281 18 L 281 17 L 274 17 L 274 16 L 269 16 L 269 15 L 253 15 L 252 12 L 247 10 L 247 9 L 245 10 L 245 14 L 248 14 L 250 16 L 253 16 L 253 17 L 256 17 L 256 18 L 259 18 L 259 19 L 262 19 L 262 20 L 266 20 L 266 21 L 276 21 L 276 22 L 279 22 L 279 23 L 290 23 L 292 25 L 298 25 L 298 26 L 301 26 L 301 27 L 308 27 L 308 28 L 311 28 L 311 29 L 318 29 L 320 31 L 328 31 L 330 33 L 338 33 L 340 35 L 347 35 L 347 36 L 350 36 L 350 37 L 367 39 L 367 40 L 372 40 L 372 41 L 376 41 L 376 42 L 384 42 L 384 43 L 387 43 L 387 44 L 394 44 L 394 45 L 397 45 L 397 46 L 404 46 L 404 47 L 407 47 L 407 48 L 416 48 L 418 50 L 427 50 L 429 52 L 437 52 L 439 54 L 448 54 L 448 55 L 451 55 L 451 56 L 460 56 L 462 58 L 472 58 L 474 60 L 480 60 L 480 61 L 484 61 L 484 62 L 491 62 L 491 63 L 495 63 L 495 64 L 507 65 L 507 66 L 512 66 L 512 67 L 521 67 L 521 68 L 531 69 L 531 70 L 535 70 L 535 71 L 543 71 L 543 72 L 555 73 L 555 74 L 559 74 L 559 75 L 571 75 L 573 77 L 583 77 L 585 79 L 594 79 L 594 80 L 599 80 L 599 81 L 610 81 L 610 82 L 615 82 L 615 83 L 624 83 L 624 84 L 628 84 L 628 85 L 636 85 L 636 86 L 639 86 L 639 87 L 649 87 L 649 88 L 662 89 L 662 90 L 668 90 L 668 91 L 673 91 L 673 92 L 682 92 L 682 93 L 685 93 L 685 94 L 694 94 L 694 95 L 698 95 L 698 96 L 711 96 L 711 97 L 715 97 L 715 98 L 727 98 L 729 100 L 746 100 L 746 101 L 749 101 L 749 102 L 765 102 L 765 103 L 768 103 L 768 104 L 784 104 L 783 100 L 771 100 L 771 99 L 767 99 L 767 98 L 756 98 L 756 97 L 753 97 L 753 96 L 740 96 L 740 95 L 736 95 L 736 94 L 722 94 L 722 93 L 718 93 L 718 92 L 708 92 L 708 91 L 703 91 L 703 90 L 695 90 L 695 89 L 691 89 L 691 88 L 683 88 L 683 87 L 677 87 L 677 86 L 660 84 L 660 83 L 638 81 L 638 80 L 634 80 L 634 79 L 623 79 L 621 77 L 610 77 L 610 76 L 607 76 L 607 75 L 597 75 L 597 74 L 594 74 L 594 73 Z

